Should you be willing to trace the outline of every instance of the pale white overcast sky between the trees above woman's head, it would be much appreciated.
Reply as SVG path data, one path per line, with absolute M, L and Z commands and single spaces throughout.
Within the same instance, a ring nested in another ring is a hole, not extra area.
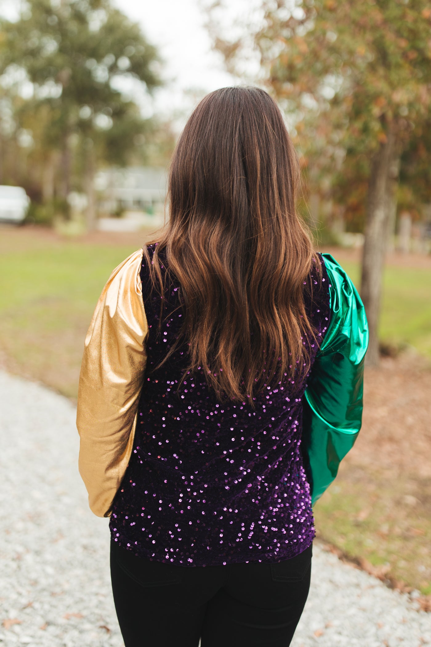
M 205 29 L 201 3 L 208 0 L 112 0 L 133 21 L 140 23 L 147 39 L 158 48 L 163 58 L 165 87 L 156 91 L 148 102 L 136 85 L 120 83 L 142 105 L 143 113 L 171 117 L 180 113 L 176 126 L 181 129 L 187 114 L 196 102 L 219 87 L 238 80 L 224 69 L 222 57 L 211 50 Z M 220 14 L 226 30 L 233 30 L 235 19 L 253 14 L 261 0 L 227 0 Z M 0 13 L 10 19 L 17 17 L 21 0 L 0 0 Z

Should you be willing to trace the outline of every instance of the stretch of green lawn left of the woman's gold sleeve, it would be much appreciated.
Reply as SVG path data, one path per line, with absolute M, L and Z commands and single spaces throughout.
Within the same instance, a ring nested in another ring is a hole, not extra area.
M 76 398 L 85 333 L 110 272 L 142 235 L 92 241 L 0 229 L 0 361 Z

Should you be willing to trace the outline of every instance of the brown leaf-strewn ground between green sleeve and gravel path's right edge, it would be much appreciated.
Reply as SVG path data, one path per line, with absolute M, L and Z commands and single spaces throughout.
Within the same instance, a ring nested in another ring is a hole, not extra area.
M 315 506 L 317 536 L 431 610 L 431 364 L 382 358 L 364 379 L 363 428 Z

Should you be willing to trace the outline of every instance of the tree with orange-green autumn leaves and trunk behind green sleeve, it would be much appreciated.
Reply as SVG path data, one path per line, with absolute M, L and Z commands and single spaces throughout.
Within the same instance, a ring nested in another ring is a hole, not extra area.
M 430 111 L 431 8 L 428 0 L 268 0 L 263 6 L 254 39 L 265 82 L 302 143 L 315 153 L 317 146 L 332 147 L 365 162 L 361 296 L 370 325 L 366 359 L 375 365 L 400 155 Z M 240 42 L 219 38 L 218 49 L 241 55 Z

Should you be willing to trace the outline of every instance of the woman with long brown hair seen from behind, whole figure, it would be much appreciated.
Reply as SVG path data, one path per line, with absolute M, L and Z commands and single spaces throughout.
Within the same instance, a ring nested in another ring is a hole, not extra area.
M 209 94 L 173 155 L 169 223 L 96 307 L 79 470 L 110 516 L 126 647 L 285 647 L 304 608 L 311 496 L 361 426 L 367 333 L 298 179 L 266 92 Z

